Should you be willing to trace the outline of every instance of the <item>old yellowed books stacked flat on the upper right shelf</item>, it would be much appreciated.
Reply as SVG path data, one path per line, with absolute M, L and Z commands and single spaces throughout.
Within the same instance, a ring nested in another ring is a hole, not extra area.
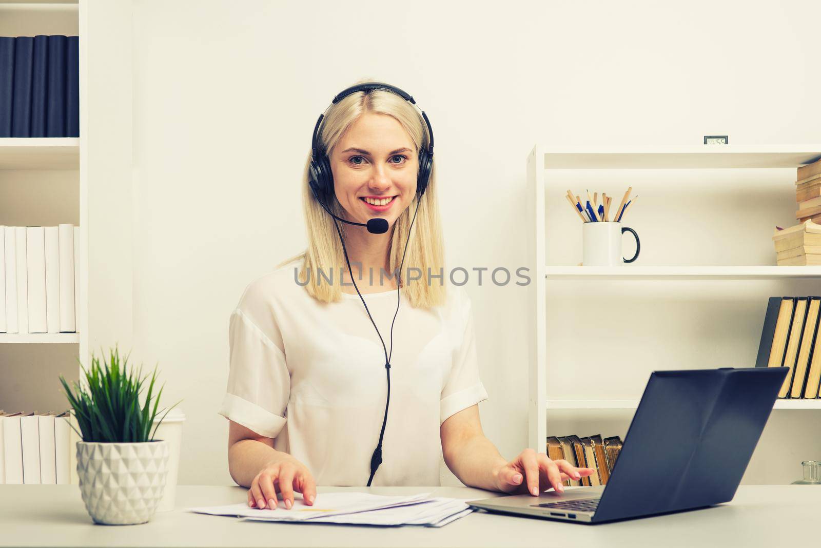
M 798 168 L 796 219 L 800 224 L 773 232 L 780 265 L 821 265 L 821 160 Z

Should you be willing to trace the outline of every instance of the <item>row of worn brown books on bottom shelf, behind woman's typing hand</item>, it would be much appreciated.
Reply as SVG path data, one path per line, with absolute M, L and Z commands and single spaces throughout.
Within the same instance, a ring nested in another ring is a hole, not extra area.
M 597 486 L 606 485 L 616 465 L 616 459 L 621 452 L 621 438 L 612 436 L 602 439 L 602 436 L 549 436 L 548 458 L 551 460 L 565 459 L 573 466 L 593 468 L 594 473 L 579 480 L 568 479 L 567 486 Z

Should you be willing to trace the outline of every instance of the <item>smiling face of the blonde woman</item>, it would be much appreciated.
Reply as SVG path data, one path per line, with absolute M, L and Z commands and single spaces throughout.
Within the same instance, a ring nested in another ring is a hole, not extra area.
M 416 192 L 419 160 L 396 118 L 368 112 L 333 150 L 333 190 L 349 221 L 381 217 L 392 225 Z

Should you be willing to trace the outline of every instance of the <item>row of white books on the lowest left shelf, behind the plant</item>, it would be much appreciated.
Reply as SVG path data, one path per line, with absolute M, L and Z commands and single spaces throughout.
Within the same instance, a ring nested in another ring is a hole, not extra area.
M 71 448 L 80 436 L 74 428 L 76 418 L 69 411 L 0 409 L 0 483 L 76 483 L 77 457 Z

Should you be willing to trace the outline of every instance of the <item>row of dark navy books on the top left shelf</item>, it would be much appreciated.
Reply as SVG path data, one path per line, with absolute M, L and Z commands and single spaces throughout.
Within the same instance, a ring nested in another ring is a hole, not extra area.
M 76 36 L 0 36 L 0 137 L 80 136 Z

